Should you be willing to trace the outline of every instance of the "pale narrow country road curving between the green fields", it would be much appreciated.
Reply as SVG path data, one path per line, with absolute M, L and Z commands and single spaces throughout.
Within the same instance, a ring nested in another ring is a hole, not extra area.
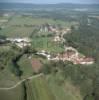
M 0 88 L 0 90 L 11 90 L 11 89 L 14 89 L 14 88 L 16 88 L 18 85 L 20 85 L 21 83 L 23 83 L 24 81 L 26 81 L 27 79 L 31 80 L 31 79 L 33 79 L 33 78 L 37 78 L 37 77 L 42 76 L 42 75 L 43 75 L 43 74 L 41 73 L 41 74 L 38 74 L 38 75 L 35 75 L 35 76 L 28 77 L 28 78 L 26 78 L 26 79 L 23 79 L 23 80 L 19 81 L 18 83 L 16 83 L 16 84 L 15 84 L 14 86 L 12 86 L 12 87 Z

